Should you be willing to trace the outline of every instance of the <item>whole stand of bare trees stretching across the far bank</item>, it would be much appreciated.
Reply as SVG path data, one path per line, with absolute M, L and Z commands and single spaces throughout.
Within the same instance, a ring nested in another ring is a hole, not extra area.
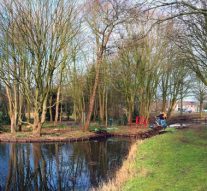
M 148 118 L 157 99 L 170 115 L 189 94 L 192 72 L 207 84 L 207 5 L 195 2 L 1 0 L 0 84 L 11 132 L 25 123 L 39 136 L 46 115 L 57 124 L 63 110 L 85 130 L 97 118 L 131 123 L 135 111 Z

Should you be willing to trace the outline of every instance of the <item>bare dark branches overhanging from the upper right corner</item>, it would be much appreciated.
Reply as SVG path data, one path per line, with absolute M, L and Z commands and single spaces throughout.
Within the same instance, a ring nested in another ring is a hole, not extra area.
M 176 44 L 188 59 L 188 67 L 207 85 L 207 2 L 205 0 L 153 1 L 152 9 L 164 10 L 165 17 L 156 23 L 174 19 L 179 33 L 175 33 Z M 150 8 L 150 9 L 151 9 Z M 181 30 L 183 29 L 183 30 Z

